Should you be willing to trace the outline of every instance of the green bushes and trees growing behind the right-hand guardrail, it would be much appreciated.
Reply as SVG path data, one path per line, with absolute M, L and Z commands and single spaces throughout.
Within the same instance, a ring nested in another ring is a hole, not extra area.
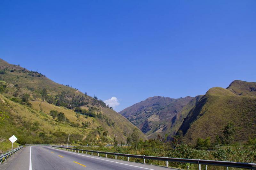
M 78 146 L 76 148 L 134 155 L 256 163 L 256 138 L 249 138 L 246 144 L 233 143 L 233 130 L 232 123 L 226 126 L 222 140 L 224 143 L 220 144 L 216 142 L 212 143 L 210 138 L 207 137 L 206 139 L 198 138 L 196 145 L 192 146 L 184 144 L 182 136 L 179 135 L 173 136 L 172 141 L 168 141 L 167 136 L 162 138 L 158 135 L 157 139 L 150 139 L 143 142 L 139 139 L 136 129 L 134 129 L 127 138 L 127 145 L 116 142 L 110 147 L 106 145 L 100 145 L 99 147 L 88 145 L 87 147 Z M 104 155 L 102 156 L 104 157 Z M 114 159 L 114 156 L 108 155 L 108 158 Z M 126 157 L 118 157 L 118 159 L 127 160 Z M 143 163 L 142 159 L 136 158 L 130 158 L 130 161 Z M 164 161 L 146 159 L 146 163 L 165 166 Z M 198 169 L 198 165 L 186 163 L 169 162 L 169 166 L 181 169 L 187 169 L 189 166 L 189 169 Z M 208 168 L 224 169 L 225 167 L 208 166 Z M 202 166 L 202 169 L 204 169 L 204 166 Z

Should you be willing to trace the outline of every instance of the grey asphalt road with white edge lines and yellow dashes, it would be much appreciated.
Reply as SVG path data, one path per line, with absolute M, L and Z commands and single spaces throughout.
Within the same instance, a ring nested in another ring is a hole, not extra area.
M 31 156 L 30 156 L 31 155 Z M 6 170 L 138 170 L 170 168 L 69 152 L 51 146 L 27 146 L 0 165 Z

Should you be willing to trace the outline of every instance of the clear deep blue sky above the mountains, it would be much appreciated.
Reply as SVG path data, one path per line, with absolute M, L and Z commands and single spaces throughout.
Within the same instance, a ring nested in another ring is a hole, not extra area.
M 116 111 L 256 81 L 256 1 L 0 1 L 0 58 Z

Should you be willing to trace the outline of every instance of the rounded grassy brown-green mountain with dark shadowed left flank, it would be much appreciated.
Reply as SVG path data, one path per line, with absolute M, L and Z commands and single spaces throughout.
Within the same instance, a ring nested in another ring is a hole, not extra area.
M 185 143 L 195 144 L 198 137 L 211 137 L 214 141 L 228 122 L 235 123 L 235 141 L 256 137 L 256 97 L 252 90 L 255 85 L 255 82 L 235 80 L 227 89 L 209 89 L 180 126 Z

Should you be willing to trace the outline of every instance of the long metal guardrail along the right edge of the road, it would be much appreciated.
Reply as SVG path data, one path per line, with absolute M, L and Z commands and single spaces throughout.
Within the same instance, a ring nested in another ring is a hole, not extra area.
M 60 148 L 63 150 L 69 150 L 69 151 L 81 151 L 81 153 L 85 152 L 91 152 L 91 153 L 98 153 L 99 154 L 105 154 L 106 158 L 107 155 L 115 155 L 115 156 L 124 156 L 127 157 L 127 160 L 129 161 L 129 158 L 141 158 L 144 159 L 151 159 L 151 160 L 159 160 L 159 161 L 166 161 L 166 166 L 168 167 L 168 162 L 180 162 L 180 163 L 189 163 L 189 164 L 198 164 L 199 170 L 201 170 L 201 165 L 212 165 L 212 166 L 226 166 L 228 167 L 235 167 L 235 168 L 244 168 L 244 169 L 251 169 L 256 170 L 256 164 L 254 163 L 242 163 L 242 162 L 228 162 L 228 161 L 217 161 L 217 160 L 201 160 L 201 159 L 182 159 L 182 158 L 168 158 L 168 157 L 155 157 L 155 156 L 142 156 L 142 155 L 130 155 L 130 154 L 124 154 L 124 153 L 113 153 L 113 152 L 101 152 L 101 151 L 91 151 L 91 150 L 83 150 L 83 149 L 74 149 L 74 148 L 65 148 L 65 147 L 58 147 L 58 146 L 52 146 L 55 148 Z

